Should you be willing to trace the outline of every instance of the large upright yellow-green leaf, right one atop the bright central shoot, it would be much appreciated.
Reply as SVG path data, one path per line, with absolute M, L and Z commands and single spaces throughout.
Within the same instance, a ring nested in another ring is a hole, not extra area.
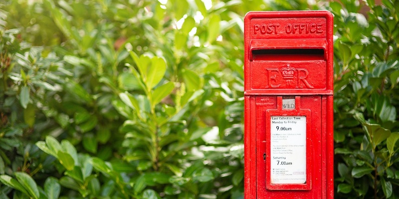
M 151 67 L 148 69 L 146 85 L 148 89 L 153 89 L 162 80 L 166 72 L 166 63 L 164 59 L 153 57 Z

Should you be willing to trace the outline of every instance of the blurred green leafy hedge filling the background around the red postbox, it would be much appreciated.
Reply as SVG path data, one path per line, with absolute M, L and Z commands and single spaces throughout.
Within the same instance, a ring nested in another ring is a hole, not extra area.
M 398 0 L 1 0 L 0 198 L 243 198 L 243 16 L 316 9 L 335 198 L 399 198 Z

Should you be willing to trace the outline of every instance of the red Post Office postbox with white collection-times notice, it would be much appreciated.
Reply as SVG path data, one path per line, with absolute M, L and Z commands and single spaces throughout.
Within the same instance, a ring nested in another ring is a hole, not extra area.
M 333 16 L 248 12 L 245 199 L 333 199 Z

